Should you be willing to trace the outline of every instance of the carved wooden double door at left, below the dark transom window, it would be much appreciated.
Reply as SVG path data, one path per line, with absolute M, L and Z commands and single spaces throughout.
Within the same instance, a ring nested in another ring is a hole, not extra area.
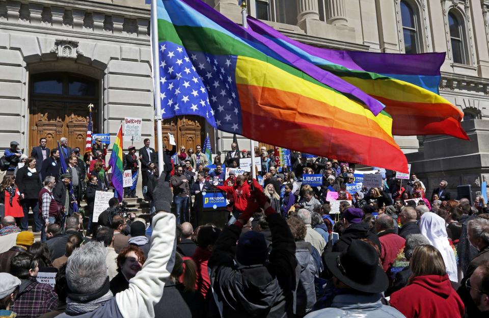
M 66 137 L 68 145 L 79 147 L 83 154 L 88 120 L 87 102 L 33 100 L 29 115 L 29 153 L 33 147 L 39 146 L 41 138 L 46 138 L 47 147 L 52 149 L 58 146 L 61 137 Z

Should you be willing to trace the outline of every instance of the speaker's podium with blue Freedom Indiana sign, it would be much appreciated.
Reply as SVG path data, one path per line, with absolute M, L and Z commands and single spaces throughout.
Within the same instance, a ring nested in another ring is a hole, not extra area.
M 224 228 L 229 219 L 226 195 L 215 190 L 199 192 L 194 198 L 193 215 L 194 227 L 212 223 Z

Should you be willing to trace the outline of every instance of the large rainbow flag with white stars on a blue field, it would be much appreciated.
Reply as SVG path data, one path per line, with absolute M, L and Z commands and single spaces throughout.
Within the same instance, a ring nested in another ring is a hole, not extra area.
M 345 85 L 342 92 L 332 87 L 342 83 L 334 75 L 315 67 L 322 71 L 318 80 L 292 67 L 264 44 L 269 40 L 201 1 L 162 0 L 157 6 L 164 118 L 182 109 L 204 111 L 209 123 L 229 133 L 407 172 L 392 118 L 378 109 L 374 116 L 359 89 Z

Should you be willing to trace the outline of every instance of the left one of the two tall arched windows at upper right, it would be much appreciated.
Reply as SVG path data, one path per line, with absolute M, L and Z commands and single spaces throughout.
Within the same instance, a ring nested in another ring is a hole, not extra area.
M 401 1 L 400 6 L 404 51 L 410 54 L 421 53 L 418 12 L 408 1 Z

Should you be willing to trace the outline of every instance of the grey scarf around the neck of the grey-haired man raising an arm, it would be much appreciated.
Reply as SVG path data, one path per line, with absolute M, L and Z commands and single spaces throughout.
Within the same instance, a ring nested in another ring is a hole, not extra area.
M 69 283 L 68 283 L 69 289 Z M 79 315 L 86 312 L 91 312 L 103 306 L 114 295 L 110 289 L 108 276 L 105 279 L 102 287 L 95 293 L 89 295 L 74 294 L 68 290 L 66 298 L 66 313 L 69 315 Z

